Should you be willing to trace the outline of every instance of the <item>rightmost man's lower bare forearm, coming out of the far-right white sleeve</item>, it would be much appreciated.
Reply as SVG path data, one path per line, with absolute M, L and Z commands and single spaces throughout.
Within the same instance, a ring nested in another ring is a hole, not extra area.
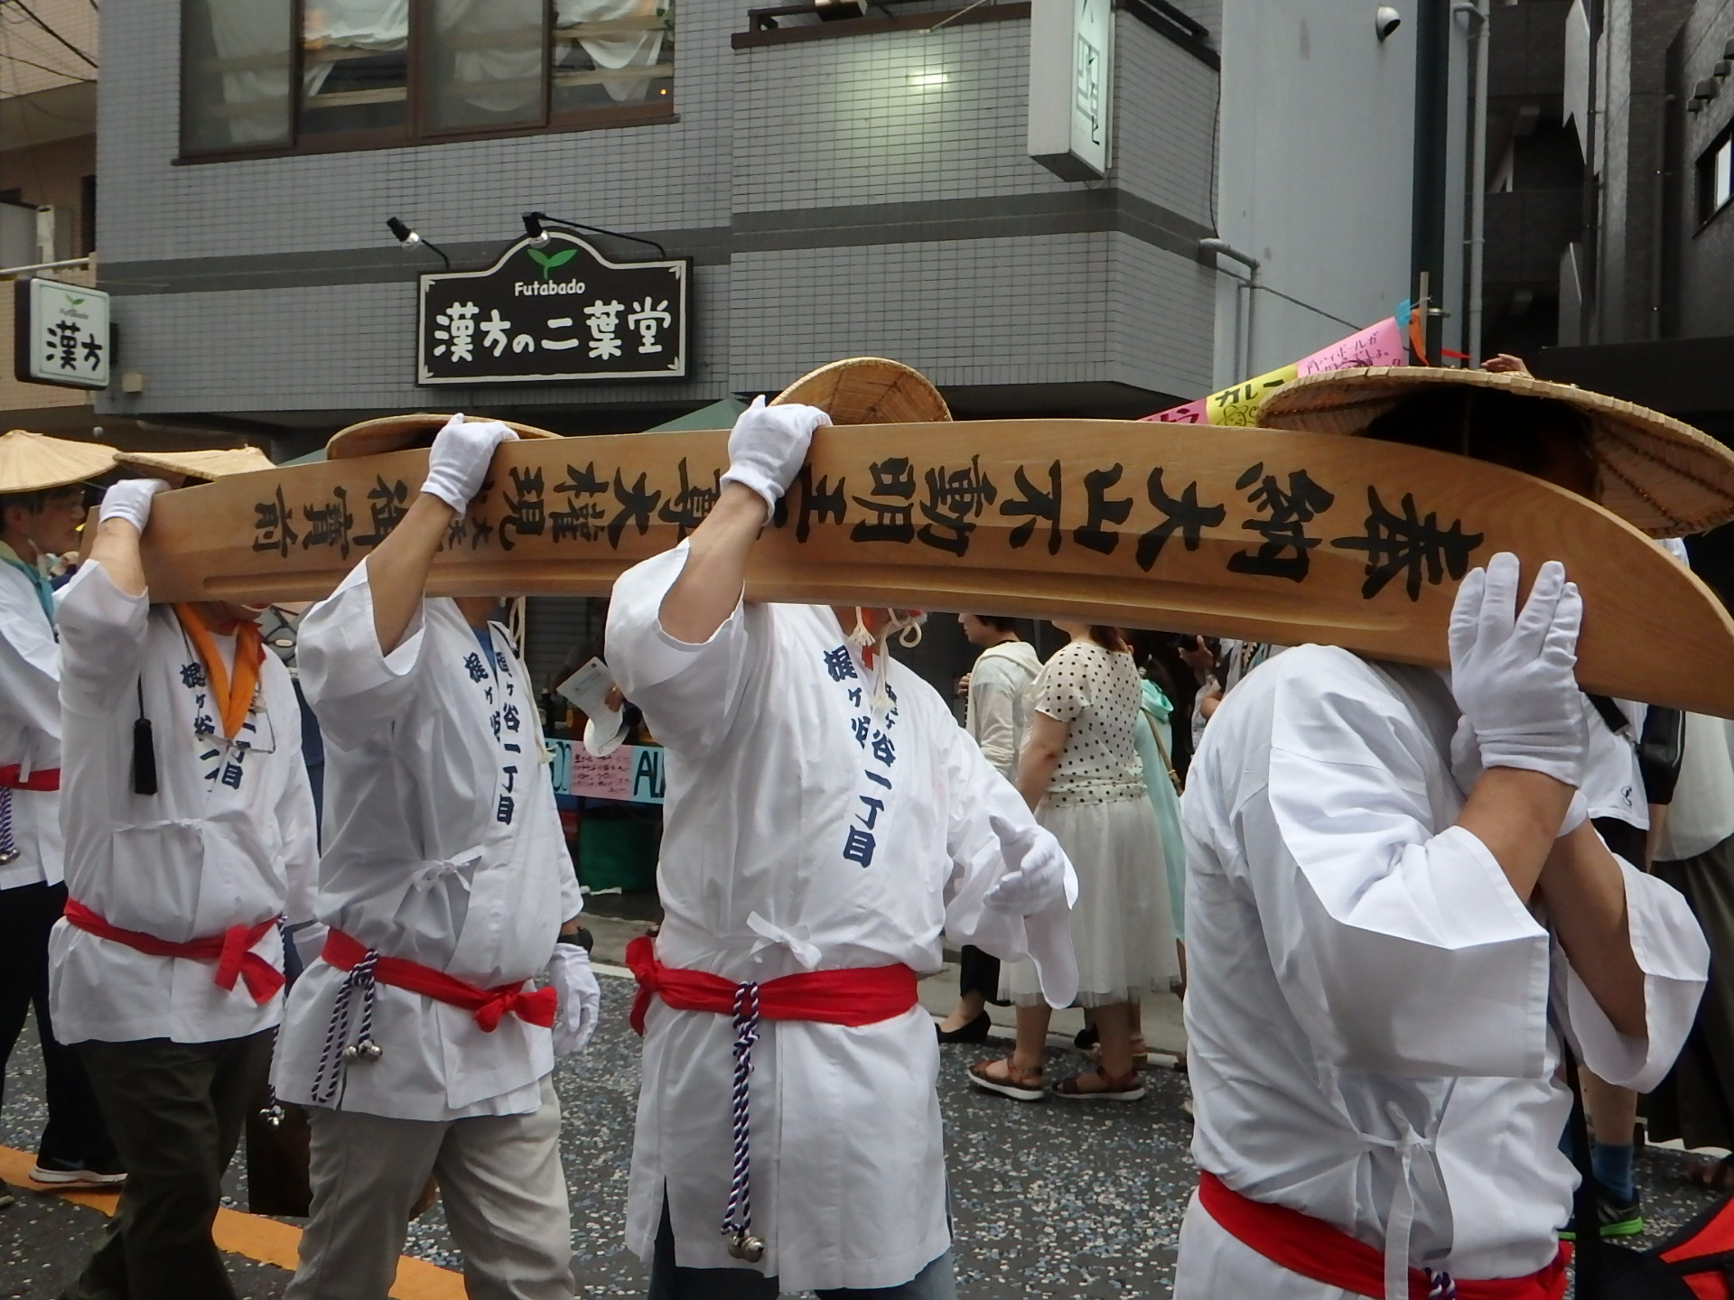
M 1620 1033 L 1644 1038 L 1644 969 L 1632 952 L 1625 875 L 1588 822 L 1559 837 L 1540 886 L 1571 969 Z

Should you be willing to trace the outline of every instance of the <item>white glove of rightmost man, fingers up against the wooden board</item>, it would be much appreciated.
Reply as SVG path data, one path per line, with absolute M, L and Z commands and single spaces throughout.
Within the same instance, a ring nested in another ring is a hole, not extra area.
M 1457 589 L 1451 693 L 1474 728 L 1483 768 L 1524 768 L 1578 785 L 1583 695 L 1573 669 L 1583 598 L 1555 560 L 1517 612 L 1517 556 L 1495 555 Z

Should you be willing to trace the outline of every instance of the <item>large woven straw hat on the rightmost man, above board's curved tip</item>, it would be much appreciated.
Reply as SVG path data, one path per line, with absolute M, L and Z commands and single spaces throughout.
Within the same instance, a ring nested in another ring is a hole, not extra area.
M 1455 367 L 1372 366 L 1290 380 L 1259 406 L 1257 423 L 1359 435 L 1398 402 L 1427 390 L 1505 392 L 1564 402 L 1588 430 L 1595 499 L 1653 537 L 1684 537 L 1734 520 L 1734 452 L 1659 411 L 1569 383 Z

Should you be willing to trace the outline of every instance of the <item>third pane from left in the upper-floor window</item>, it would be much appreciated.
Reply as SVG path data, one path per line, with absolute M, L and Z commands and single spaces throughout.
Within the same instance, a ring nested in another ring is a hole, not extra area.
M 543 120 L 543 0 L 434 0 L 430 130 Z

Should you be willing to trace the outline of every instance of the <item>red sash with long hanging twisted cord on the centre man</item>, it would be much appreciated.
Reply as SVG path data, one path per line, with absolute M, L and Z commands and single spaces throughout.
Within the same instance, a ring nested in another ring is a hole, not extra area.
M 675 1011 L 706 1011 L 733 1019 L 735 1075 L 730 1089 L 730 1141 L 733 1170 L 721 1234 L 728 1253 L 758 1264 L 765 1241 L 753 1234 L 753 1047 L 759 1021 L 815 1021 L 860 1028 L 902 1016 L 919 1005 L 916 972 L 907 965 L 869 965 L 846 971 L 803 971 L 735 983 L 707 971 L 683 971 L 655 959 L 655 939 L 642 934 L 626 945 L 626 967 L 638 981 L 631 1023 L 645 1031 L 650 998 L 662 998 Z

